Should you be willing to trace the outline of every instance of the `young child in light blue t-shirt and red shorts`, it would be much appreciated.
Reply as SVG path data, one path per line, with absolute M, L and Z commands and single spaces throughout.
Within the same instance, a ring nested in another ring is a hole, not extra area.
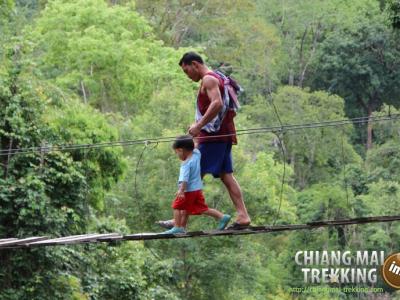
M 193 138 L 182 135 L 176 138 L 172 145 L 176 155 L 182 161 L 178 191 L 172 202 L 174 209 L 174 227 L 164 231 L 165 234 L 185 233 L 189 215 L 207 215 L 219 220 L 217 229 L 223 230 L 228 225 L 231 216 L 208 208 L 203 196 L 203 182 L 200 174 L 201 153 L 194 148 Z

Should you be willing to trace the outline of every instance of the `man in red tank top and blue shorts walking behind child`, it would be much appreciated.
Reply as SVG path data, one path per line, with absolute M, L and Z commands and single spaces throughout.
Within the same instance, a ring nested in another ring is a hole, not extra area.
M 228 190 L 237 212 L 236 221 L 229 228 L 246 228 L 251 220 L 240 185 L 233 176 L 232 165 L 232 145 L 237 144 L 233 122 L 236 113 L 224 107 L 224 80 L 210 70 L 195 52 L 185 53 L 179 65 L 191 80 L 200 81 L 196 122 L 190 126 L 189 134 L 196 138 L 201 152 L 201 175 L 212 174 L 214 178 L 220 178 Z M 223 110 L 224 113 L 221 113 Z M 161 221 L 159 224 L 163 227 L 173 226 L 171 221 Z

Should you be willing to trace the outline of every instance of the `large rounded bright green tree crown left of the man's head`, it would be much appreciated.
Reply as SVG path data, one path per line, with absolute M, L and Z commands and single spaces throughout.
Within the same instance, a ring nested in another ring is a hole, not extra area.
M 178 76 L 180 54 L 154 40 L 132 5 L 52 1 L 27 33 L 44 76 L 102 111 L 137 112 Z

